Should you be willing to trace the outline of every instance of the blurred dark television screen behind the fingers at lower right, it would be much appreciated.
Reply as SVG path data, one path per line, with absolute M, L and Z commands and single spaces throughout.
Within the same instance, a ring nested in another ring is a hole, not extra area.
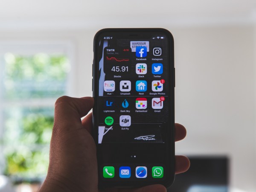
M 190 156 L 187 172 L 175 176 L 168 192 L 227 192 L 228 158 L 224 156 Z

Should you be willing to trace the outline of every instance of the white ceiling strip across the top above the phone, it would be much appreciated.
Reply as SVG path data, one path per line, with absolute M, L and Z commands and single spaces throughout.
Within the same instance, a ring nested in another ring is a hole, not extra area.
M 256 0 L 0 0 L 0 29 L 244 23 Z

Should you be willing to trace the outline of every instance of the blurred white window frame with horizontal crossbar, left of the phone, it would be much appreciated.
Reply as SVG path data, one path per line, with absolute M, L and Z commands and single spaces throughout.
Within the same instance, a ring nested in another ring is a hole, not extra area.
M 5 68 L 4 54 L 7 52 L 12 52 L 17 55 L 34 55 L 38 52 L 43 52 L 46 54 L 63 54 L 66 55 L 69 64 L 70 71 L 67 73 L 67 89 L 66 95 L 73 95 L 75 93 L 75 44 L 71 40 L 22 40 L 22 41 L 0 41 L 0 92 L 3 91 L 3 70 Z M 4 125 L 5 120 L 3 117 L 3 112 L 6 108 L 11 106 L 20 107 L 54 107 L 55 99 L 52 98 L 42 98 L 42 99 L 24 99 L 20 101 L 9 101 L 3 98 L 0 94 L 0 175 L 4 172 L 4 167 L 6 166 L 5 157 L 3 154 L 4 143 L 1 142 L 1 138 L 4 135 Z

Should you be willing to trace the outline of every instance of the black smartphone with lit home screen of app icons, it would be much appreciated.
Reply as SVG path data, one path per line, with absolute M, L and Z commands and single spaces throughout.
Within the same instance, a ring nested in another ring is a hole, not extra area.
M 102 29 L 93 52 L 99 187 L 170 186 L 175 178 L 172 34 L 158 28 Z

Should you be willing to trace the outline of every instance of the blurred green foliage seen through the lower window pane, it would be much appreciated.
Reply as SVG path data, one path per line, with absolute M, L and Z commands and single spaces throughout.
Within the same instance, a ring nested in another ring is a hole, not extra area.
M 12 108 L 6 111 L 3 138 L 5 175 L 26 181 L 42 179 L 46 175 L 52 114 L 52 108 Z

